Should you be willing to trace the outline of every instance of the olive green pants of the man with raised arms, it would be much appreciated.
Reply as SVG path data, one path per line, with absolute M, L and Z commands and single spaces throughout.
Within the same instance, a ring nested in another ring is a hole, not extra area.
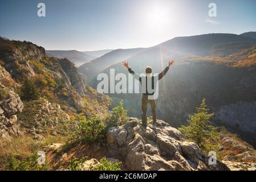
M 147 110 L 148 110 L 148 104 L 151 105 L 151 113 L 153 121 L 156 121 L 156 103 L 155 100 L 148 100 L 148 96 L 143 95 L 142 101 L 141 101 L 141 109 L 142 109 L 142 122 L 147 125 Z

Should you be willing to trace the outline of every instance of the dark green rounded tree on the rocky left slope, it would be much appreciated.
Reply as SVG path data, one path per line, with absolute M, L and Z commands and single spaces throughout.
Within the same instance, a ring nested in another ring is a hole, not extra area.
M 22 100 L 37 100 L 40 97 L 39 90 L 36 88 L 34 82 L 27 79 L 21 88 Z

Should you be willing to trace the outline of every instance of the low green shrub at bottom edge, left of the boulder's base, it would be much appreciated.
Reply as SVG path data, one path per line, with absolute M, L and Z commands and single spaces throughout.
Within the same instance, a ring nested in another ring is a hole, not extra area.
M 100 159 L 100 163 L 94 168 L 94 171 L 121 171 L 121 162 L 112 163 L 105 157 Z

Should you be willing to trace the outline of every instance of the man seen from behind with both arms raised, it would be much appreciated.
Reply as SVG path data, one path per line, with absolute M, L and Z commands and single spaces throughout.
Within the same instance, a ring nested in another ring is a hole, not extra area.
M 147 67 L 145 69 L 145 73 L 147 74 L 146 76 L 140 76 L 139 74 L 134 72 L 129 67 L 127 61 L 123 61 L 123 65 L 128 69 L 129 73 L 131 73 L 133 75 L 133 77 L 135 77 L 137 80 L 140 81 L 141 87 L 142 86 L 145 87 L 145 92 L 143 92 L 142 101 L 141 101 L 141 109 L 142 109 L 141 118 L 142 118 L 142 123 L 143 123 L 144 127 L 147 127 L 147 109 L 148 109 L 147 105 L 148 105 L 148 103 L 151 105 L 153 122 L 156 122 L 156 103 L 155 103 L 155 99 L 153 99 L 151 97 L 154 95 L 154 92 L 150 92 L 150 90 L 148 90 L 148 80 L 149 80 L 149 78 L 151 78 L 152 90 L 155 90 L 155 84 L 154 84 L 155 81 L 161 80 L 161 78 L 165 76 L 165 74 L 168 72 L 169 68 L 172 66 L 173 63 L 174 63 L 173 60 L 169 61 L 168 66 L 164 69 L 164 71 L 159 73 L 159 75 L 157 75 L 157 76 L 152 76 L 152 68 L 151 67 Z M 143 81 L 145 81 L 145 84 L 143 83 Z M 141 89 L 143 90 L 144 88 L 141 88 Z

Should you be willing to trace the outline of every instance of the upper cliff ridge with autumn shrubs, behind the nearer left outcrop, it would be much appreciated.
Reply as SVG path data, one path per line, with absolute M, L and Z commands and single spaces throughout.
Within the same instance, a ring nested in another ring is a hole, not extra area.
M 101 97 L 101 101 L 108 102 L 107 97 L 88 91 L 90 88 L 70 60 L 48 57 L 43 47 L 31 42 L 0 38 L 0 60 L 2 67 L 17 84 L 21 86 L 26 79 L 30 79 L 39 89 L 41 97 L 63 105 L 68 111 L 95 111 L 89 101 L 94 100 L 93 97 Z M 87 108 L 84 102 L 89 102 Z M 98 103 L 98 100 L 95 103 L 105 106 Z

